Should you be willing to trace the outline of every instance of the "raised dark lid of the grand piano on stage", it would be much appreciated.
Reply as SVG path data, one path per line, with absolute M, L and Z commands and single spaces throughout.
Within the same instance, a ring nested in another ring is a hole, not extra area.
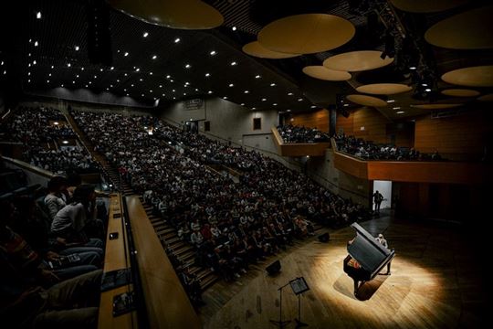
M 372 277 L 380 271 L 387 262 L 393 259 L 394 251 L 383 247 L 366 229 L 359 224 L 351 224 L 356 230 L 356 238 L 348 244 L 348 252 L 357 260 L 365 271 L 372 273 Z

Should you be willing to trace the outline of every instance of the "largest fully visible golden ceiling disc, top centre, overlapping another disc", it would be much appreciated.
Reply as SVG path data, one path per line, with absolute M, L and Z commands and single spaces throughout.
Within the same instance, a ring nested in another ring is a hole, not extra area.
M 340 16 L 304 14 L 267 24 L 258 32 L 258 42 L 282 53 L 313 54 L 342 46 L 355 32 L 351 22 Z

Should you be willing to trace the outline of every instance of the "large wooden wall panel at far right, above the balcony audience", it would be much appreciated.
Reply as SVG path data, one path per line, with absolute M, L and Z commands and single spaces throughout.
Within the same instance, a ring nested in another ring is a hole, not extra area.
M 448 158 L 454 154 L 476 154 L 480 158 L 488 138 L 493 134 L 490 111 L 469 111 L 462 115 L 432 119 L 430 115 L 416 119 L 414 147 L 423 153 L 436 150 Z

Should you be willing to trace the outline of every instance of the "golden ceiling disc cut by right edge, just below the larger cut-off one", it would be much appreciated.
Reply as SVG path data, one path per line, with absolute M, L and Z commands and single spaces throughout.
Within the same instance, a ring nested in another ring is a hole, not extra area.
M 446 72 L 442 80 L 469 87 L 493 87 L 493 65 L 454 69 Z

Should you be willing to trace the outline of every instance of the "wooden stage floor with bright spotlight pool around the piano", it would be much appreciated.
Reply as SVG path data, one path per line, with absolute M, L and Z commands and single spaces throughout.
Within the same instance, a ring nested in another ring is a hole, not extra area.
M 342 271 L 346 242 L 354 236 L 351 228 L 343 228 L 331 232 L 328 243 L 314 240 L 288 253 L 280 259 L 278 276 L 258 271 L 214 314 L 202 314 L 205 328 L 275 328 L 269 319 L 278 320 L 278 287 L 299 276 L 310 288 L 301 295 L 301 320 L 309 328 L 462 328 L 485 323 L 485 264 L 477 261 L 476 246 L 457 229 L 389 218 L 362 226 L 373 236 L 383 232 L 396 250 L 392 275 L 365 283 L 362 301 L 353 296 L 352 280 Z M 289 286 L 282 302 L 283 320 L 291 320 L 286 327 L 294 328 L 298 299 Z

